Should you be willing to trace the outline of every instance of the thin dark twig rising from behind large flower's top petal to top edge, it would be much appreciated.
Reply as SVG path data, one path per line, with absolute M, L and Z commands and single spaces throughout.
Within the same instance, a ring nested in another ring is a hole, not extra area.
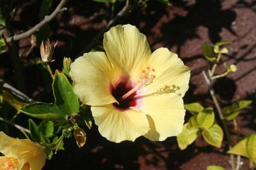
M 134 10 L 135 8 L 138 8 L 141 6 L 141 2 L 139 2 L 137 5 L 135 6 L 130 6 L 129 5 L 129 0 L 126 0 L 126 4 L 125 6 L 122 8 L 121 11 L 118 12 L 118 14 L 112 18 L 107 24 L 106 26 L 94 37 L 94 39 L 90 42 L 89 45 L 86 46 L 86 48 L 84 48 L 82 50 L 82 52 L 79 54 L 79 56 L 83 55 L 84 53 L 88 53 L 90 51 L 90 49 L 93 47 L 93 45 L 96 43 L 96 41 L 102 36 L 102 34 L 104 32 L 106 32 L 106 30 L 108 30 L 110 28 L 110 26 L 116 22 L 120 17 L 124 16 L 127 12 Z

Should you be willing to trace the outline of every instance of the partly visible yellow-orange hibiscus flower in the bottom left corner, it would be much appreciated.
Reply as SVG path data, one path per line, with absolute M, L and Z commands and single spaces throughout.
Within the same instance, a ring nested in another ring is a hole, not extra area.
M 15 139 L 0 132 L 0 170 L 40 170 L 46 162 L 42 145 L 29 139 Z

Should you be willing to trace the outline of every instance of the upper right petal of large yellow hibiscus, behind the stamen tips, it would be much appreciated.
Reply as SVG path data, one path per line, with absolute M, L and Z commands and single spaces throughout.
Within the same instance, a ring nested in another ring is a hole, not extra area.
M 144 93 L 152 93 L 169 86 L 176 90 L 181 97 L 188 89 L 190 77 L 189 67 L 178 58 L 175 53 L 169 52 L 167 48 L 158 48 L 151 56 L 149 64 L 155 69 L 152 74 L 156 76 L 154 82 L 143 89 Z M 174 86 L 173 86 L 174 85 Z

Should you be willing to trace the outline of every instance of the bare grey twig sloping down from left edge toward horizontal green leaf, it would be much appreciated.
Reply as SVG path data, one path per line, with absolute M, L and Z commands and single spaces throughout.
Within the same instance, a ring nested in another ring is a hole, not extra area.
M 16 88 L 12 87 L 8 83 L 5 83 L 4 80 L 0 79 L 0 87 L 3 87 L 4 89 L 8 90 L 11 92 L 13 95 L 17 96 L 17 98 L 22 99 L 23 101 L 27 103 L 35 103 L 33 99 L 29 98 L 26 94 L 23 92 L 17 90 Z

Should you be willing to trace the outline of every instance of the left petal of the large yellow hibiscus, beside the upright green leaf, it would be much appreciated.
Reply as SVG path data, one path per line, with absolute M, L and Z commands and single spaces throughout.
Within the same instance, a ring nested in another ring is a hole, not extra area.
M 86 53 L 71 64 L 74 92 L 82 103 L 97 106 L 117 102 L 111 94 L 114 70 L 103 52 Z

